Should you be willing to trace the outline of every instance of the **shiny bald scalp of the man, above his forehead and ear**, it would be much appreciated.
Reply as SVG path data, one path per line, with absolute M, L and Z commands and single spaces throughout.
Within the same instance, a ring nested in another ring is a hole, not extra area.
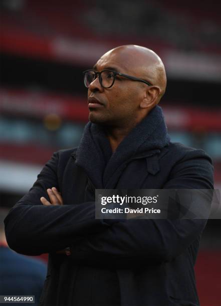
M 111 49 L 100 60 L 105 60 L 107 55 L 108 58 L 118 58 L 125 73 L 133 72 L 134 76 L 158 86 L 159 102 L 166 89 L 166 72 L 161 58 L 154 51 L 143 46 L 128 44 Z

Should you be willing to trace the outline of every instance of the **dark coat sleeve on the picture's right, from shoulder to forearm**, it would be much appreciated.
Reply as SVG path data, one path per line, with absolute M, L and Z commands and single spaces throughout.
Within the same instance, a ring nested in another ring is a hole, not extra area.
M 212 189 L 213 167 L 201 150 L 186 154 L 177 162 L 165 189 Z M 206 219 L 129 219 L 106 231 L 87 236 L 71 247 L 74 260 L 134 264 L 143 260 L 173 260 L 197 239 Z

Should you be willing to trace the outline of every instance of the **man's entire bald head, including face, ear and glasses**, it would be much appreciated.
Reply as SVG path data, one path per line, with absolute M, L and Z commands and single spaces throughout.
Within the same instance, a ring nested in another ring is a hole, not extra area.
M 132 129 L 159 102 L 166 88 L 162 60 L 138 45 L 122 45 L 106 52 L 89 76 L 89 120 L 112 129 Z

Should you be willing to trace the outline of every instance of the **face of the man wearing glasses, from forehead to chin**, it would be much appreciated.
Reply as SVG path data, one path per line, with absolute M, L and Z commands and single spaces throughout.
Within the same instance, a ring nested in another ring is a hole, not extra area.
M 94 69 L 111 69 L 140 77 L 136 69 L 130 68 L 129 65 L 130 61 L 123 51 L 115 50 L 105 53 L 97 61 Z M 89 120 L 113 127 L 135 122 L 144 87 L 145 84 L 140 82 L 116 76 L 112 87 L 103 88 L 97 77 L 88 88 Z

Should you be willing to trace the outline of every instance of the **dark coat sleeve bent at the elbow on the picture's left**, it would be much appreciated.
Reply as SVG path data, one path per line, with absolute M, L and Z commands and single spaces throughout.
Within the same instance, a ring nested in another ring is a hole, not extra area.
M 109 225 L 95 220 L 95 203 L 44 206 L 47 188 L 58 188 L 59 152 L 47 162 L 30 191 L 10 210 L 5 219 L 9 246 L 27 255 L 38 255 L 63 249 L 81 235 L 103 230 Z

